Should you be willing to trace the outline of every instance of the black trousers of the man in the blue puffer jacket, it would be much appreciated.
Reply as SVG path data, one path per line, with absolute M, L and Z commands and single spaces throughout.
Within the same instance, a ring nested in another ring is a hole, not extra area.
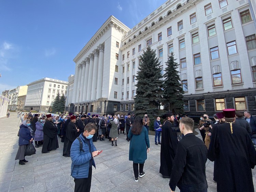
M 91 189 L 91 167 L 89 168 L 88 178 L 74 179 L 75 192 L 90 192 Z

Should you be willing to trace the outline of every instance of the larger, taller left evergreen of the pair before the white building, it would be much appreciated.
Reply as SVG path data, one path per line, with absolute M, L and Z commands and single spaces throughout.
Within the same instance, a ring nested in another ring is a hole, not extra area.
M 147 114 L 150 119 L 156 115 L 161 115 L 160 103 L 164 101 L 162 98 L 163 90 L 162 74 L 159 68 L 159 60 L 156 57 L 156 51 L 149 46 L 143 51 L 140 57 L 139 70 L 137 72 L 135 113 L 139 116 Z

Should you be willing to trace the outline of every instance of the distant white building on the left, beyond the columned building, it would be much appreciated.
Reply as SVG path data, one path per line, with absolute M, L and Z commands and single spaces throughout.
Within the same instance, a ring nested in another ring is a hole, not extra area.
M 67 90 L 68 82 L 47 77 L 29 83 L 24 109 L 51 111 L 57 93 L 66 97 Z

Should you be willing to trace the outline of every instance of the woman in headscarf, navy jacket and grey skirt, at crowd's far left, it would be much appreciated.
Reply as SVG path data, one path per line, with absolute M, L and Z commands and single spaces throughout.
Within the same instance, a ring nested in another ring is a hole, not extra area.
M 29 142 L 32 142 L 34 139 L 34 132 L 29 127 L 30 126 L 30 119 L 24 120 L 23 123 L 19 126 L 19 149 L 17 151 L 15 160 L 19 160 L 20 165 L 25 165 L 25 150 L 26 146 Z

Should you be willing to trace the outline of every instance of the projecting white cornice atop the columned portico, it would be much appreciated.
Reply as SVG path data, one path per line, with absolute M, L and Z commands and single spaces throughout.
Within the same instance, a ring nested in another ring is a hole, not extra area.
M 115 28 L 120 33 L 125 34 L 130 29 L 124 25 L 121 21 L 116 19 L 113 15 L 111 15 L 105 23 L 99 28 L 99 30 L 94 34 L 94 36 L 88 41 L 88 43 L 83 47 L 83 49 L 75 56 L 73 61 L 77 63 L 90 48 L 99 41 L 99 39 L 110 29 Z

